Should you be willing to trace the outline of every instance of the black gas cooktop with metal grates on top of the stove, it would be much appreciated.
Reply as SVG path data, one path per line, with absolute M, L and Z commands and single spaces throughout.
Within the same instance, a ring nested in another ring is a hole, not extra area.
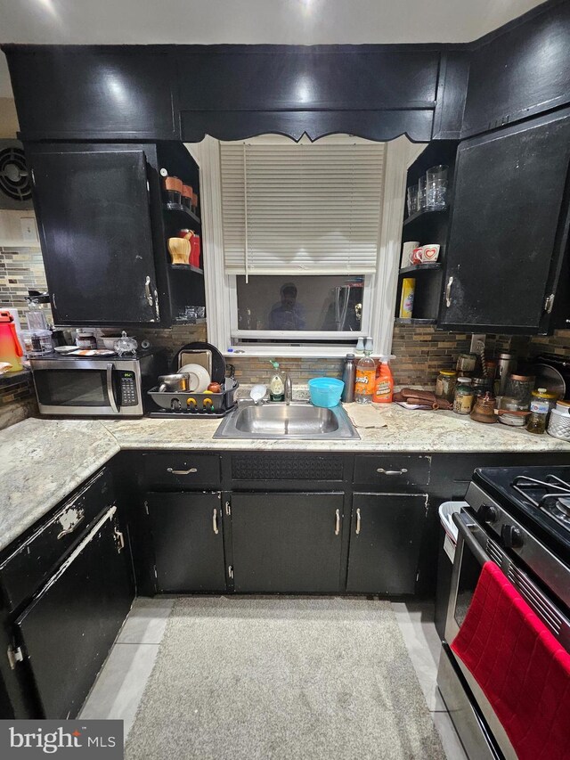
M 570 465 L 485 467 L 475 470 L 473 480 L 527 527 L 570 551 Z

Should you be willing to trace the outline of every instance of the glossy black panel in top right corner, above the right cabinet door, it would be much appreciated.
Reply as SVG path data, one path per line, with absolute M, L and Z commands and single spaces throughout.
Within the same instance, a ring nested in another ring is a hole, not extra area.
M 471 53 L 463 136 L 570 102 L 570 3 L 532 12 Z

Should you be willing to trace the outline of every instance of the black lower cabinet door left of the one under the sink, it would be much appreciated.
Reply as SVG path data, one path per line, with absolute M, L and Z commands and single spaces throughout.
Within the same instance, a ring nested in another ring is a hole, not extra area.
M 221 494 L 147 494 L 159 592 L 225 591 Z

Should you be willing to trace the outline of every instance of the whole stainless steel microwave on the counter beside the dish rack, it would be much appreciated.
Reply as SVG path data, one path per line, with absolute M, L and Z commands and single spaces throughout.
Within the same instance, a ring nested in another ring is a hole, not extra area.
M 43 356 L 30 360 L 41 414 L 61 417 L 140 417 L 147 391 L 167 372 L 166 357 Z

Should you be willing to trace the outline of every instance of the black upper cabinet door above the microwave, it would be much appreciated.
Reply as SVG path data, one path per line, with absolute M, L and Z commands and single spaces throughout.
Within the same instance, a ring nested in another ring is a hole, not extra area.
M 142 150 L 30 150 L 45 274 L 59 324 L 159 319 Z

